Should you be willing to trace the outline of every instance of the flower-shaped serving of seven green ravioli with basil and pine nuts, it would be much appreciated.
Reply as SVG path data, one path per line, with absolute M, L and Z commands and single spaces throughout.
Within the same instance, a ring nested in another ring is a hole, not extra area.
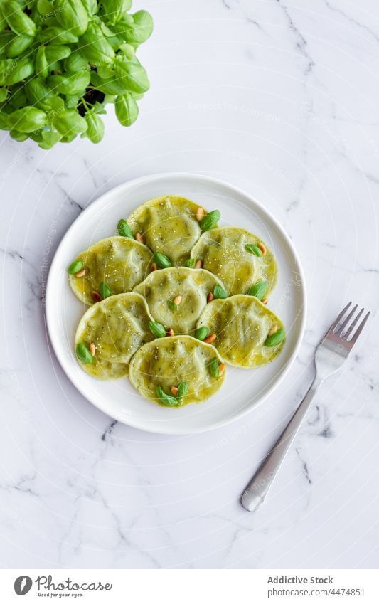
M 90 305 L 75 334 L 84 371 L 129 376 L 145 398 L 181 407 L 217 392 L 225 363 L 258 367 L 282 351 L 282 322 L 260 301 L 276 285 L 274 255 L 219 218 L 189 199 L 157 197 L 119 219 L 119 236 L 72 260 L 70 287 Z

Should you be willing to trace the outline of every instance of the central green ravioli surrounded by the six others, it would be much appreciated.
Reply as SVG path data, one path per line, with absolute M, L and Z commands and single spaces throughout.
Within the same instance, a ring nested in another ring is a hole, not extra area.
M 218 277 L 208 270 L 171 267 L 151 272 L 134 287 L 134 292 L 146 298 L 154 319 L 166 329 L 171 327 L 175 334 L 190 334 L 196 329 L 207 296 L 215 285 L 223 287 Z M 181 300 L 176 305 L 173 301 L 178 296 Z

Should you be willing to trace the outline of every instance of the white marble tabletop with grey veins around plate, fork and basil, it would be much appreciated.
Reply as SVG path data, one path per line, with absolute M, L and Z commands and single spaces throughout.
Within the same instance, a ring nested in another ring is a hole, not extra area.
M 358 5 L 358 6 L 357 6 Z M 264 507 L 238 502 L 353 299 L 379 299 L 375 0 L 144 0 L 156 28 L 132 129 L 44 152 L 1 134 L 0 564 L 10 568 L 378 565 L 378 319 L 326 385 Z M 114 423 L 49 348 L 43 285 L 68 226 L 135 176 L 192 171 L 260 199 L 297 245 L 309 319 L 280 391 L 227 427 Z

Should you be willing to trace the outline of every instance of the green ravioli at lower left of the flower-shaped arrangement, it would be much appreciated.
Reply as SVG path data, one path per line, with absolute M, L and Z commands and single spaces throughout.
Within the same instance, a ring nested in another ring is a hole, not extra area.
M 75 334 L 75 347 L 95 344 L 92 363 L 82 369 L 102 380 L 126 376 L 133 354 L 153 339 L 152 320 L 144 297 L 137 293 L 110 296 L 83 314 Z

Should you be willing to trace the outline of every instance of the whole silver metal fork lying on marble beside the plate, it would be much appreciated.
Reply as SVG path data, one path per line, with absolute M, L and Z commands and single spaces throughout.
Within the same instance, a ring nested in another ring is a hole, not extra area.
M 317 346 L 316 354 L 314 356 L 316 373 L 308 392 L 299 404 L 292 419 L 287 424 L 287 428 L 283 430 L 274 447 L 267 457 L 265 457 L 259 470 L 257 470 L 249 484 L 247 484 L 247 487 L 242 494 L 242 506 L 249 512 L 255 512 L 255 510 L 265 501 L 269 487 L 271 487 L 272 482 L 274 482 L 274 477 L 277 475 L 279 467 L 282 465 L 284 457 L 287 455 L 287 451 L 292 445 L 292 441 L 297 435 L 301 423 L 304 420 L 321 383 L 324 379 L 333 375 L 333 373 L 336 373 L 336 371 L 341 368 L 354 344 L 356 344 L 363 327 L 365 327 L 365 322 L 370 316 L 370 312 L 365 315 L 365 318 L 353 333 L 353 330 L 356 328 L 364 311 L 364 309 L 361 309 L 355 319 L 353 319 L 353 315 L 358 308 L 357 304 L 341 323 L 341 320 L 350 307 L 351 302 L 349 302 L 343 311 L 338 314 L 336 321 L 328 332 L 326 332 L 324 338 L 319 343 L 319 346 Z

